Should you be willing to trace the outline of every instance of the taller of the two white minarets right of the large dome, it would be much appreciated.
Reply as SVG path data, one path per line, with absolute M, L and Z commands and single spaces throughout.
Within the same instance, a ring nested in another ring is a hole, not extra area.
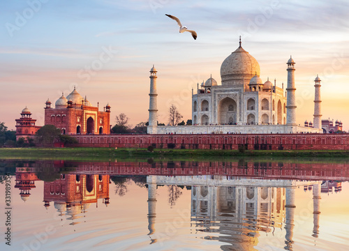
M 287 62 L 287 119 L 288 125 L 296 125 L 296 96 L 295 96 L 295 61 L 292 56 Z

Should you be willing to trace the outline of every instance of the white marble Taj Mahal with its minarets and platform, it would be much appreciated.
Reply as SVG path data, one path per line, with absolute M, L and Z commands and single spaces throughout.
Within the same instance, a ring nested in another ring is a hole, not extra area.
M 193 126 L 157 126 L 156 68 L 150 70 L 149 134 L 322 133 L 320 78 L 315 78 L 313 127 L 296 123 L 295 61 L 287 61 L 284 89 L 260 78 L 258 61 L 242 48 L 221 64 L 221 84 L 212 77 L 192 91 Z

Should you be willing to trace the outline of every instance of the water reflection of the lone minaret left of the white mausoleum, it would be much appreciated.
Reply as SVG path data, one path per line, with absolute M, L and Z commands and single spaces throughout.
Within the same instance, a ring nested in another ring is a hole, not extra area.
M 156 218 L 156 176 L 150 175 L 147 176 L 147 185 L 148 185 L 148 229 L 149 237 L 151 243 L 156 243 L 156 238 L 151 238 L 155 233 L 155 218 Z

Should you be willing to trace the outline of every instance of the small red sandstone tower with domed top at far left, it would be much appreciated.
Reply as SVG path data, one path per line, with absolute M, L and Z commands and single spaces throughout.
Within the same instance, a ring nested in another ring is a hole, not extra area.
M 22 109 L 21 118 L 16 119 L 16 139 L 35 135 L 41 126 L 35 126 L 36 119 L 31 118 L 31 112 L 27 107 Z

